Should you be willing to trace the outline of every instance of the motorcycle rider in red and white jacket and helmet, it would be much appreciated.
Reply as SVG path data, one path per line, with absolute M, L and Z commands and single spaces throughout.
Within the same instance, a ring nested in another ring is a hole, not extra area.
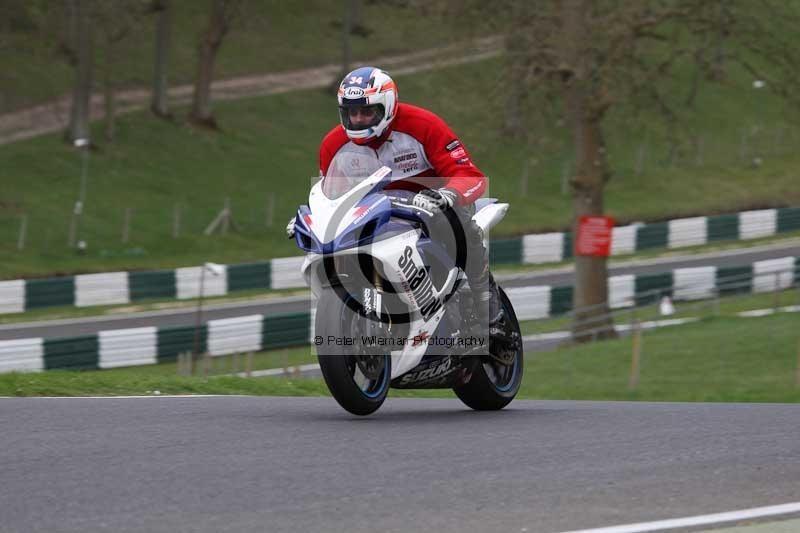
M 488 317 L 490 333 L 499 333 L 502 313 L 497 286 L 489 273 L 483 231 L 472 220 L 474 202 L 486 189 L 486 176 L 441 118 L 398 101 L 397 85 L 383 70 L 374 67 L 353 70 L 339 85 L 337 98 L 341 124 L 322 140 L 320 175 L 327 176 L 340 150 L 367 148 L 392 169 L 393 180 L 402 182 L 403 188 L 418 191 L 413 205 L 434 214 L 453 209 L 466 238 L 464 271 L 477 316 Z M 293 217 L 286 227 L 290 238 L 294 236 L 294 223 Z

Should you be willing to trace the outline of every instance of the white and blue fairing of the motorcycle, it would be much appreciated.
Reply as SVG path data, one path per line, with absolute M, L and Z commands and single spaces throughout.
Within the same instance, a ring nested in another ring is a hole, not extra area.
M 366 170 L 373 170 L 368 168 Z M 363 171 L 362 171 L 363 172 Z M 397 266 L 404 250 L 411 248 L 411 260 L 415 265 L 429 264 L 421 254 L 437 252 L 441 246 L 431 243 L 422 235 L 419 222 L 430 216 L 424 210 L 410 205 L 393 204 L 383 188 L 391 181 L 387 167 L 378 168 L 366 177 L 324 178 L 317 182 L 309 194 L 308 206 L 301 206 L 295 221 L 295 239 L 298 247 L 308 252 L 301 267 L 307 284 L 315 295 L 325 287 L 319 279 L 320 269 L 312 268 L 324 256 L 368 254 L 384 266 L 384 275 L 395 287 L 408 281 Z M 405 191 L 392 191 L 402 196 Z M 479 200 L 474 220 L 488 233 L 505 215 L 508 204 L 494 203 L 493 199 Z M 434 287 L 436 298 L 443 299 L 453 290 L 461 273 L 452 269 L 442 287 Z M 408 338 L 445 336 L 450 332 L 438 331 L 447 306 L 441 306 L 427 319 L 419 312 L 413 293 L 400 292 L 411 312 Z M 406 343 L 402 349 L 392 352 L 392 375 L 394 379 L 417 366 L 425 355 L 427 344 Z

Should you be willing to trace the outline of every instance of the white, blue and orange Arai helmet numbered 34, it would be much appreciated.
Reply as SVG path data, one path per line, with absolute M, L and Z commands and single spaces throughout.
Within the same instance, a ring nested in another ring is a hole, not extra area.
M 339 85 L 339 118 L 347 136 L 356 144 L 380 137 L 397 115 L 397 86 L 386 72 L 374 67 L 357 68 Z M 354 108 L 372 110 L 369 122 L 354 123 Z

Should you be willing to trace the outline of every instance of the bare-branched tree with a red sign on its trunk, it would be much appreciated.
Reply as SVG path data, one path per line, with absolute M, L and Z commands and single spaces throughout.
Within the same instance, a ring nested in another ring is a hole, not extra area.
M 453 2 L 449 4 L 453 7 Z M 532 135 L 534 124 L 563 122 L 574 148 L 573 234 L 582 215 L 604 213 L 604 190 L 612 176 L 604 126 L 619 106 L 651 109 L 678 135 L 680 110 L 693 100 L 700 81 L 716 81 L 729 64 L 742 66 L 779 94 L 797 98 L 797 3 L 780 0 L 474 0 L 458 3 L 473 20 L 493 19 L 507 32 L 510 90 L 508 129 L 519 122 Z M 696 67 L 700 76 L 688 98 L 675 98 L 675 73 Z M 800 98 L 798 98 L 800 99 Z M 555 104 L 555 105 L 553 105 Z M 556 109 L 560 119 L 542 120 Z M 544 133 L 545 135 L 547 133 Z M 529 143 L 534 146 L 536 143 Z M 604 257 L 575 258 L 573 338 L 613 336 L 608 313 Z M 593 334 L 589 331 L 593 330 Z

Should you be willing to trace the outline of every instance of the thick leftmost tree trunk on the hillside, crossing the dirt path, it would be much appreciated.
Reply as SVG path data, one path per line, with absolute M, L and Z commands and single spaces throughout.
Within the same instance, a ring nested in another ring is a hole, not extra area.
M 66 140 L 89 139 L 89 103 L 92 96 L 92 25 L 89 21 L 88 0 L 71 0 L 69 7 L 74 17 L 77 64 L 75 66 L 75 86 L 72 92 L 69 124 Z

